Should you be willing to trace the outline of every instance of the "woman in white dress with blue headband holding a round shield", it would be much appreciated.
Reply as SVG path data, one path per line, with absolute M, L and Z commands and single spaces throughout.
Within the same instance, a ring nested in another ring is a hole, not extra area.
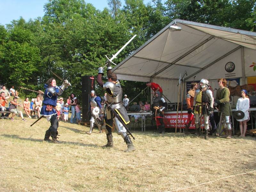
M 239 121 L 239 127 L 240 127 L 240 133 L 241 135 L 239 137 L 245 137 L 245 132 L 247 129 L 247 121 L 250 120 L 249 116 L 249 108 L 250 108 L 250 100 L 247 95 L 247 91 L 245 89 L 241 90 L 241 96 L 236 103 L 236 111 L 240 110 L 244 112 L 244 118 L 243 119 L 237 119 Z

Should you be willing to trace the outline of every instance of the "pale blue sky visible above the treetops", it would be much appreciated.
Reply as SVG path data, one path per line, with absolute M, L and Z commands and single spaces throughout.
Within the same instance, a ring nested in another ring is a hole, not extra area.
M 18 20 L 21 16 L 28 21 L 44 16 L 44 4 L 48 0 L 0 0 L 0 24 L 11 23 L 12 20 Z M 108 7 L 107 0 L 85 0 L 86 3 L 93 4 L 96 9 L 103 10 Z M 151 2 L 144 0 L 144 4 Z M 122 0 L 122 6 L 124 0 Z

